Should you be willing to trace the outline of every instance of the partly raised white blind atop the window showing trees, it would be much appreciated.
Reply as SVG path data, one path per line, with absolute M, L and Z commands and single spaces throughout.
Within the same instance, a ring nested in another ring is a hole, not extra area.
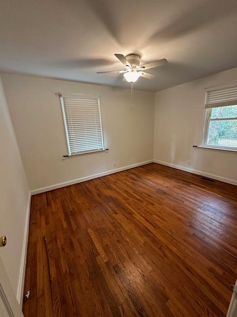
M 205 108 L 237 105 L 237 86 L 207 91 Z

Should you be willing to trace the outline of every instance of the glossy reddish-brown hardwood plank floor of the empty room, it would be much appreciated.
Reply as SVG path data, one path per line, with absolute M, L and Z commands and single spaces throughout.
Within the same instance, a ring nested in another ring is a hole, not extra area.
M 25 317 L 226 316 L 237 187 L 151 163 L 32 197 Z

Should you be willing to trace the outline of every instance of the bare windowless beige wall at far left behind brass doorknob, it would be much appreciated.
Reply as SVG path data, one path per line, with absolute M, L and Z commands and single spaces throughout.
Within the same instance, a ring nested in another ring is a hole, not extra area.
M 1 80 L 0 149 L 0 236 L 6 235 L 8 240 L 7 245 L 0 248 L 0 257 L 17 295 L 23 273 L 29 188 Z

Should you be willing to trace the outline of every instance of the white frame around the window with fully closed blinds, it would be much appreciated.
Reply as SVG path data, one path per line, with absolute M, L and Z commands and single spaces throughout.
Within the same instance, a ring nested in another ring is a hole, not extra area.
M 79 97 L 91 98 L 91 99 L 96 99 L 97 100 L 98 109 L 99 109 L 100 127 L 101 127 L 101 137 L 102 137 L 102 149 L 91 149 L 91 150 L 88 150 L 88 151 L 79 151 L 77 153 L 73 153 L 72 154 L 71 147 L 70 147 L 69 134 L 68 134 L 66 110 L 65 110 L 64 101 L 63 101 L 63 97 L 65 97 L 65 95 L 68 95 L 68 94 L 58 93 L 58 95 L 59 95 L 59 98 L 60 98 L 61 110 L 62 110 L 62 115 L 63 115 L 63 123 L 64 123 L 64 130 L 65 130 L 65 136 L 66 136 L 67 149 L 68 149 L 68 156 L 71 157 L 71 156 L 77 156 L 77 155 L 81 155 L 81 154 L 88 154 L 88 153 L 95 153 L 95 152 L 105 151 L 104 132 L 103 132 L 101 106 L 100 106 L 100 96 L 92 96 L 92 95 L 77 94 L 77 93 L 69 94 L 71 96 L 79 96 Z

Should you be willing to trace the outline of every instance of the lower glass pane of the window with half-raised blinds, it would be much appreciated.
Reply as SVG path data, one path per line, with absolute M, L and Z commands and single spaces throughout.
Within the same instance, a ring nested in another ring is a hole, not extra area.
M 237 120 L 210 121 L 207 145 L 237 147 Z

